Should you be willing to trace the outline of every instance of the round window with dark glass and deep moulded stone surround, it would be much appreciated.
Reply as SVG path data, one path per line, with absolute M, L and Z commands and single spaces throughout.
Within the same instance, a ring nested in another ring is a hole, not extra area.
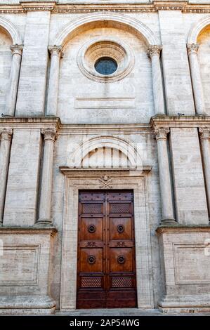
M 131 48 L 122 42 L 97 38 L 79 49 L 77 64 L 88 79 L 110 83 L 131 72 L 134 56 Z

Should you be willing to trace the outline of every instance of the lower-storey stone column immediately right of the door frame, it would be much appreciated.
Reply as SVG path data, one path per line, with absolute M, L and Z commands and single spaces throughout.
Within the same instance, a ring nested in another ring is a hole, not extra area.
M 159 185 L 162 202 L 162 225 L 176 224 L 173 217 L 173 202 L 171 193 L 171 178 L 167 150 L 167 134 L 169 128 L 156 128 L 157 154 L 159 164 Z

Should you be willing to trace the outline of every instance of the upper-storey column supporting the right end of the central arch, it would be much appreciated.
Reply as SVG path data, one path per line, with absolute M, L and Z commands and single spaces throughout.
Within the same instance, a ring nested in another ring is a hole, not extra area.
M 148 48 L 147 55 L 152 60 L 152 87 L 155 103 L 155 114 L 164 115 L 164 92 L 162 84 L 162 72 L 160 69 L 159 55 L 162 46 L 153 45 Z

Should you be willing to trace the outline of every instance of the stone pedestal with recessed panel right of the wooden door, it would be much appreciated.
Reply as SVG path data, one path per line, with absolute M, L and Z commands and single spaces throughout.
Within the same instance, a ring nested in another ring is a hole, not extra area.
M 162 312 L 210 311 L 210 226 L 157 228 L 165 295 Z

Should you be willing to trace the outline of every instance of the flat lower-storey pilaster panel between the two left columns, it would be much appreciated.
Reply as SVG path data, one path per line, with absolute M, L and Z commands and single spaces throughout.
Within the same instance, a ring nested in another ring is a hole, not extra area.
M 4 225 L 32 226 L 37 220 L 40 157 L 40 130 L 14 129 Z

